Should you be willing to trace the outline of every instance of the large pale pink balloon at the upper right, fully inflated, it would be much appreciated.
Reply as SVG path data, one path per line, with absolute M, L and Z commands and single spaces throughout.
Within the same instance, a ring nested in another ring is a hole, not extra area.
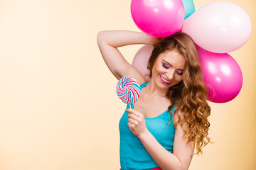
M 245 44 L 252 31 L 252 23 L 240 6 L 228 1 L 215 1 L 188 17 L 182 31 L 203 49 L 226 53 Z

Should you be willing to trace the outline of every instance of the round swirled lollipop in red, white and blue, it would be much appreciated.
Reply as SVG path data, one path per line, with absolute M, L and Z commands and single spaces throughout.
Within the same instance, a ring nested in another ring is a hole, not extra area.
M 139 83 L 132 77 L 122 77 L 117 83 L 117 96 L 127 104 L 135 103 L 139 99 Z

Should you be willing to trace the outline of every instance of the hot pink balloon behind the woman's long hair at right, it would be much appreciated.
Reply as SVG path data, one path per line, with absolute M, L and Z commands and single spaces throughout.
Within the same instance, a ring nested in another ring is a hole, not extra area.
M 238 96 L 242 88 L 242 72 L 237 62 L 227 53 L 217 54 L 196 47 L 208 86 L 208 100 L 225 103 Z

